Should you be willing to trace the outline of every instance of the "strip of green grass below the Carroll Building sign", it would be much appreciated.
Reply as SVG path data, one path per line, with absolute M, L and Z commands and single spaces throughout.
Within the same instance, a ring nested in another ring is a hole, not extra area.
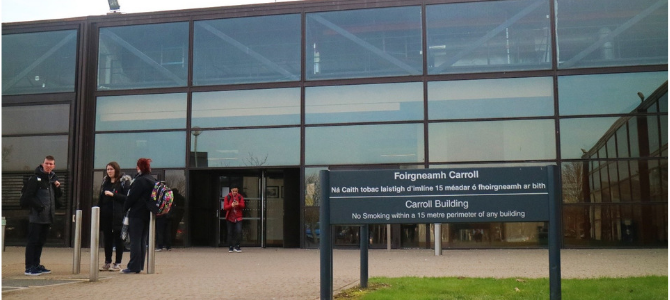
M 561 279 L 562 299 L 668 299 L 668 277 Z M 351 288 L 338 300 L 549 299 L 549 278 L 401 277 L 370 278 L 367 289 Z

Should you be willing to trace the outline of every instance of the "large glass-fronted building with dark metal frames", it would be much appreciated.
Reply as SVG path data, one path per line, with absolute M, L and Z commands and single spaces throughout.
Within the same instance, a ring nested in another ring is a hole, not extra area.
M 557 165 L 562 247 L 667 247 L 666 0 L 300 1 L 6 23 L 2 212 L 56 157 L 48 242 L 84 230 L 105 165 L 178 197 L 177 246 L 318 247 L 320 170 Z M 370 226 L 428 248 L 433 224 Z M 546 224 L 442 224 L 445 248 L 545 247 Z M 357 247 L 359 230 L 334 228 Z M 84 235 L 84 244 L 88 237 Z

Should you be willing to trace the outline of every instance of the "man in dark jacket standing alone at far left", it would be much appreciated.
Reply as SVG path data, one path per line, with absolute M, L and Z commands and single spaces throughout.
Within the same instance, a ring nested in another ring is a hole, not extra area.
M 44 162 L 35 169 L 35 174 L 26 182 L 21 195 L 30 203 L 25 275 L 38 276 L 51 273 L 51 270 L 40 264 L 40 258 L 51 223 L 56 218 L 56 208 L 60 208 L 58 198 L 63 195 L 58 176 L 53 172 L 55 167 L 54 157 L 51 155 L 45 157 Z

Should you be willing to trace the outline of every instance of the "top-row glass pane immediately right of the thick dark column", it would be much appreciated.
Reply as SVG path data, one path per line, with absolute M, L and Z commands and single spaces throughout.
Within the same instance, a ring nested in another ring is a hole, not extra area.
M 100 29 L 98 90 L 185 86 L 188 22 Z

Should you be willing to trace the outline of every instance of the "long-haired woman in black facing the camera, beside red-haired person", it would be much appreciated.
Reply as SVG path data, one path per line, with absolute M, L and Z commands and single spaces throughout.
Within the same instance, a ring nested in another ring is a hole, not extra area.
M 105 167 L 105 177 L 100 185 L 100 230 L 105 245 L 105 265 L 102 271 L 121 271 L 124 242 L 121 238 L 123 227 L 123 204 L 126 201 L 130 176 L 121 173 L 121 167 L 115 161 Z M 112 251 L 116 247 L 116 259 L 112 264 Z

